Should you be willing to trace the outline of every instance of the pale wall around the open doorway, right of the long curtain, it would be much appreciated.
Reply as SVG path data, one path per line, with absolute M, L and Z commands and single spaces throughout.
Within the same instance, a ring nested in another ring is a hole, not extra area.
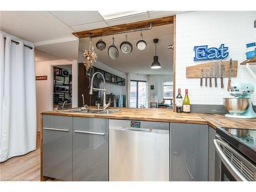
M 40 113 L 42 111 L 53 110 L 52 105 L 52 89 L 51 83 L 51 67 L 57 65 L 72 65 L 72 107 L 77 107 L 77 61 L 69 60 L 53 60 L 35 63 L 35 75 L 47 75 L 47 80 L 36 81 L 36 114 L 37 114 L 37 129 L 40 129 Z

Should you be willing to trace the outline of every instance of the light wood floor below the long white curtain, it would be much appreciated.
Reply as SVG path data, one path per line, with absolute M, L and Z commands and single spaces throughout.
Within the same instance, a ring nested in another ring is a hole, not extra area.
M 35 151 L 0 163 L 0 181 L 40 181 L 40 132 Z

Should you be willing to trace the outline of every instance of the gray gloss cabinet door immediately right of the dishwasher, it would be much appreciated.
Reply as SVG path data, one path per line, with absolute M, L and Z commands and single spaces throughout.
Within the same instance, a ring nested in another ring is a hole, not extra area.
M 170 180 L 208 181 L 208 125 L 171 123 Z

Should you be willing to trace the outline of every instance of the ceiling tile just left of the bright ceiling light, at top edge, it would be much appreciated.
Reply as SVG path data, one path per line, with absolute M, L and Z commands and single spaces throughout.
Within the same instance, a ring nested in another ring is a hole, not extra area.
M 97 11 L 50 11 L 50 13 L 70 27 L 103 21 Z

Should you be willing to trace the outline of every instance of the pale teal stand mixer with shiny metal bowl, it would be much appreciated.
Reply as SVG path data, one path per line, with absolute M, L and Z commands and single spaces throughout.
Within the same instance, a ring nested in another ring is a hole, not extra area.
M 223 98 L 223 105 L 229 114 L 226 117 L 251 119 L 256 118 L 250 95 L 254 93 L 254 86 L 251 83 L 233 83 L 229 87 L 229 94 L 232 97 Z

